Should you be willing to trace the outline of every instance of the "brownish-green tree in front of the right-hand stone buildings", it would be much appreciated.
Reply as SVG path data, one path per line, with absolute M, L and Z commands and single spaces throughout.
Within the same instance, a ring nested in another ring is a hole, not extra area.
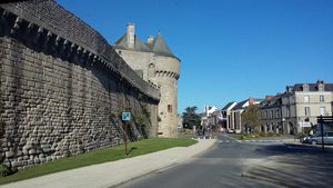
M 242 113 L 242 122 L 246 130 L 254 130 L 260 127 L 259 107 L 256 105 L 250 105 L 245 109 Z

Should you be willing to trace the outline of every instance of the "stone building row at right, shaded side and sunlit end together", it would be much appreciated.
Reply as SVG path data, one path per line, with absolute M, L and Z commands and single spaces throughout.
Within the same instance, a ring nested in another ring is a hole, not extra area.
M 332 116 L 332 96 L 333 85 L 324 81 L 287 86 L 284 93 L 261 102 L 261 130 L 306 133 L 317 123 L 317 117 Z

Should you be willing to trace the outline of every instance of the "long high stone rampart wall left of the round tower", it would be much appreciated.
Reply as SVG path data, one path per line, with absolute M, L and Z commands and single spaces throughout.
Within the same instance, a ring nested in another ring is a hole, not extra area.
M 53 1 L 0 4 L 0 162 L 21 169 L 119 145 L 127 108 L 131 139 L 155 136 L 159 90 L 97 31 Z

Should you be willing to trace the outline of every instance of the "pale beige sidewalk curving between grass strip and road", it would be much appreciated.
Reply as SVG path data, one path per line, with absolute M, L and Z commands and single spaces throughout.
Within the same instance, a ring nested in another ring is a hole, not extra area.
M 154 170 L 180 164 L 215 144 L 215 139 L 200 139 L 190 147 L 171 148 L 144 156 L 105 162 L 33 179 L 0 186 L 0 188 L 107 188 Z

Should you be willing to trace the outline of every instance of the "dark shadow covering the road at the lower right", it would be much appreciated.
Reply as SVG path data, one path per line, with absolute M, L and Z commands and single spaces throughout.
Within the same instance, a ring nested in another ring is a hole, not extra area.
M 252 166 L 245 177 L 271 181 L 286 187 L 331 187 L 333 152 L 304 145 L 265 146 L 258 152 L 272 155 Z

